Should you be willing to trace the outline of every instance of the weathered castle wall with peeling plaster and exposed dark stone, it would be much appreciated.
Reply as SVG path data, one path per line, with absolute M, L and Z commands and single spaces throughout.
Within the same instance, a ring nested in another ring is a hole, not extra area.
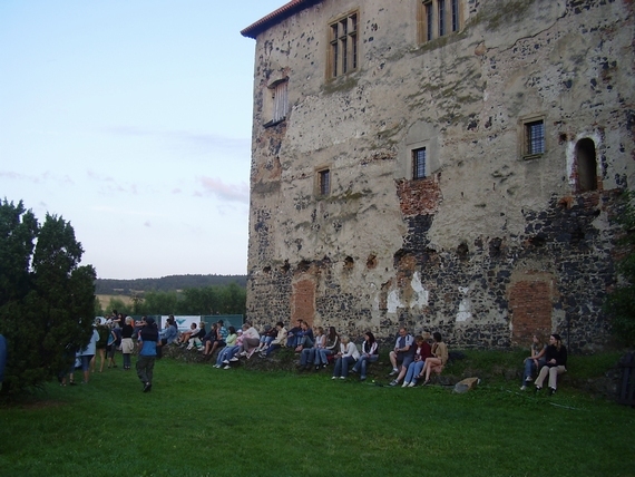
M 535 330 L 574 349 L 608 340 L 615 214 L 635 179 L 634 3 L 451 3 L 460 28 L 429 41 L 421 0 L 295 0 L 243 30 L 255 322 L 404 324 L 495 348 Z M 350 12 L 358 62 L 338 76 L 330 25 Z M 544 150 L 528 155 L 534 120 Z

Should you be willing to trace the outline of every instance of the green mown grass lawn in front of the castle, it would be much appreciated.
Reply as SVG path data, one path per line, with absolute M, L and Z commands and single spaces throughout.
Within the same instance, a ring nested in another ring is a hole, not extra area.
M 148 393 L 121 368 L 50 383 L 0 409 L 0 476 L 635 475 L 632 408 L 566 388 L 457 395 L 329 371 L 164 358 Z

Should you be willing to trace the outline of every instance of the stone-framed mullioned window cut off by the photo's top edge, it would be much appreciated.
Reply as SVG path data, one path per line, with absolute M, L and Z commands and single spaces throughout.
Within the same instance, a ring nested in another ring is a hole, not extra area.
M 465 0 L 417 1 L 420 43 L 455 33 L 462 28 Z

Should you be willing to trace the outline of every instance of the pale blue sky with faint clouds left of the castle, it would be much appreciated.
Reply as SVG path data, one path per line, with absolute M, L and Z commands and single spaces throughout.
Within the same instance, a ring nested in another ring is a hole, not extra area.
M 102 279 L 245 274 L 255 41 L 286 0 L 1 0 L 0 198 Z

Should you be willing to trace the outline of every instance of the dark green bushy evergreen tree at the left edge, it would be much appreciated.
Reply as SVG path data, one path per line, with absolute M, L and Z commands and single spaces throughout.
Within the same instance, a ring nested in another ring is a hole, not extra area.
M 22 202 L 0 203 L 0 333 L 8 343 L 3 392 L 26 389 L 70 367 L 90 338 L 95 270 L 70 223 L 39 225 Z

